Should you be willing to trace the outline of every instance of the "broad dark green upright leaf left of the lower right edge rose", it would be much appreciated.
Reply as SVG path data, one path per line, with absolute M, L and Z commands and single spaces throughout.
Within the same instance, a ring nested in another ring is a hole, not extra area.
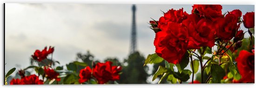
M 225 71 L 219 65 L 211 65 L 212 81 L 215 83 L 221 83 L 221 79 L 225 76 Z

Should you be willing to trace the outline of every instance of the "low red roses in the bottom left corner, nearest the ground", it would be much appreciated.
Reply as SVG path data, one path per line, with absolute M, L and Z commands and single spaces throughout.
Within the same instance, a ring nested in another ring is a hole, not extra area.
M 55 72 L 50 67 L 45 67 L 44 72 L 44 76 L 47 77 L 47 79 L 55 79 L 56 81 L 61 81 L 61 78 L 58 77 L 60 74 Z M 21 79 L 13 78 L 10 82 L 11 85 L 44 84 L 43 80 L 40 80 L 39 77 L 36 75 L 25 76 L 24 70 L 19 70 L 19 75 L 21 76 Z

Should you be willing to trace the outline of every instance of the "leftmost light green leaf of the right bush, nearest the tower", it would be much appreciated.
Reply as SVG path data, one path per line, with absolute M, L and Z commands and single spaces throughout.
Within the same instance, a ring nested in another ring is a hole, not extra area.
M 147 64 L 157 64 L 161 63 L 163 61 L 163 58 L 159 57 L 156 53 L 154 54 L 149 54 L 147 59 L 145 60 L 145 65 Z

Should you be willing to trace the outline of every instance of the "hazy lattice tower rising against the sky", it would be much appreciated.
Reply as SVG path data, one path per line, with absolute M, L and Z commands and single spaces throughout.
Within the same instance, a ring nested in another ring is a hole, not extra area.
M 130 53 L 135 53 L 137 51 L 136 47 L 136 23 L 135 23 L 135 11 L 136 6 L 132 6 L 132 38 L 131 38 L 131 47 L 130 47 Z

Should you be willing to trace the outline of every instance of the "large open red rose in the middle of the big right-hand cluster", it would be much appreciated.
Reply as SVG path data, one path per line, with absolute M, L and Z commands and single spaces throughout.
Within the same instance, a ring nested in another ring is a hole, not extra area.
M 215 45 L 215 29 L 212 21 L 200 18 L 196 14 L 190 14 L 182 23 L 188 28 L 189 49 L 213 47 Z

